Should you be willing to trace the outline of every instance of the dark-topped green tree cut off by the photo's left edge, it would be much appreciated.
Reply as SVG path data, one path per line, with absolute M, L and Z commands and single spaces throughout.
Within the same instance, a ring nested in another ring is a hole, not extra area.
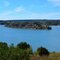
M 7 60 L 8 45 L 5 42 L 0 42 L 0 60 Z

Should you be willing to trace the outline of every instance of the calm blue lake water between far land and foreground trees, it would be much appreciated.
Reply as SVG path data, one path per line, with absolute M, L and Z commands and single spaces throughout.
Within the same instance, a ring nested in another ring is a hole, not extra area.
M 0 42 L 7 42 L 9 45 L 27 42 L 33 50 L 43 46 L 49 51 L 60 52 L 60 26 L 53 26 L 52 30 L 32 30 L 0 25 Z

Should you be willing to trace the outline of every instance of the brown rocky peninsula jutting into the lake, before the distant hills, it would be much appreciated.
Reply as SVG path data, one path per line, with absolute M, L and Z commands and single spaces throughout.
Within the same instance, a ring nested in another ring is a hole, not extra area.
M 40 22 L 7 22 L 6 27 L 11 28 L 24 28 L 24 29 L 48 29 L 51 30 L 47 24 L 42 24 Z

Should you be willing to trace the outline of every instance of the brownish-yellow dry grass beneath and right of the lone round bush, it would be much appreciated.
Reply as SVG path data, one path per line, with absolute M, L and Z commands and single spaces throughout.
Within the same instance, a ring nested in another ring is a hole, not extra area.
M 60 53 L 50 53 L 48 57 L 32 56 L 30 60 L 60 60 Z

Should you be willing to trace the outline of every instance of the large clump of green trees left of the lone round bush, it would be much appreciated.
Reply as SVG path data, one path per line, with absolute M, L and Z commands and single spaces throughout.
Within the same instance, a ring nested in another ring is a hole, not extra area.
M 29 60 L 31 51 L 30 45 L 26 42 L 9 47 L 7 43 L 0 42 L 0 60 Z

